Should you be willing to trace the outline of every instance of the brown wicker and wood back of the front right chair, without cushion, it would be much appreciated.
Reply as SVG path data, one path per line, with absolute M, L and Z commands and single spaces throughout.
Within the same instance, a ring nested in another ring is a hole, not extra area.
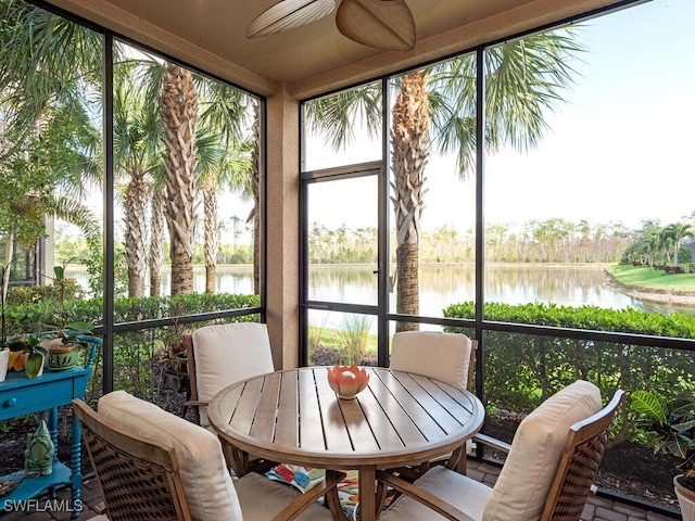
M 580 521 L 623 394 L 616 391 L 601 411 L 570 428 L 542 521 Z

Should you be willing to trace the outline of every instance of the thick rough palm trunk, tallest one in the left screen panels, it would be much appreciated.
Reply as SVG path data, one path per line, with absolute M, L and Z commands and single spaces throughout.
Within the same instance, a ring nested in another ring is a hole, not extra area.
M 193 292 L 193 229 L 198 94 L 189 71 L 168 63 L 162 78 L 166 223 L 172 257 L 172 296 Z

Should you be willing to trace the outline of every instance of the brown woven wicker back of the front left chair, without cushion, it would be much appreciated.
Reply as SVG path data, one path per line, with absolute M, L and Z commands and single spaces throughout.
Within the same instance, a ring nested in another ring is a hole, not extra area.
M 126 433 L 73 401 L 111 521 L 190 520 L 174 447 Z

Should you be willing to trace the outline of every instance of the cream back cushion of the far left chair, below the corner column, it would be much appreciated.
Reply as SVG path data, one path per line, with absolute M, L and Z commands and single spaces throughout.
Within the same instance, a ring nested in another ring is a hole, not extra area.
M 193 331 L 192 340 L 201 402 L 210 403 L 227 385 L 275 369 L 265 323 L 205 326 Z M 206 407 L 200 407 L 200 423 L 210 425 Z

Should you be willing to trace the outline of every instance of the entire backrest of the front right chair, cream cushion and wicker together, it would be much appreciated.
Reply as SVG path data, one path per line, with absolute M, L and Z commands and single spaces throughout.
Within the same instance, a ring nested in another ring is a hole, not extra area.
M 602 408 L 601 390 L 577 380 L 536 407 L 514 435 L 483 519 L 579 521 L 621 398 L 617 391 Z

